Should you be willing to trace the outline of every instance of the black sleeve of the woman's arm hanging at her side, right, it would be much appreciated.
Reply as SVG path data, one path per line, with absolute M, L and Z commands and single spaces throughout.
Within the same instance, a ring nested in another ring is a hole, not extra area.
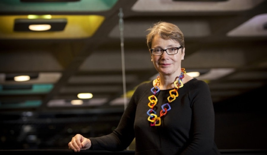
M 214 145 L 214 109 L 208 84 L 197 80 L 190 86 L 193 137 L 181 155 L 209 154 Z

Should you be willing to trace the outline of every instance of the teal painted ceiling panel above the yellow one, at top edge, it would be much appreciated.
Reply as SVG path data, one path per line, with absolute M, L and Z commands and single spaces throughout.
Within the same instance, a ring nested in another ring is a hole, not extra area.
M 101 12 L 111 9 L 118 0 L 81 0 L 77 2 L 20 2 L 0 0 L 0 12 Z

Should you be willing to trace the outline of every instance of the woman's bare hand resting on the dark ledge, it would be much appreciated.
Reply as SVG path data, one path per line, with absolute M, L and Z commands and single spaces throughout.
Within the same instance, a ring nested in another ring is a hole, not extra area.
M 72 149 L 74 152 L 80 152 L 81 150 L 87 150 L 91 147 L 91 141 L 88 138 L 83 137 L 80 134 L 72 137 L 71 141 L 68 144 L 69 149 Z

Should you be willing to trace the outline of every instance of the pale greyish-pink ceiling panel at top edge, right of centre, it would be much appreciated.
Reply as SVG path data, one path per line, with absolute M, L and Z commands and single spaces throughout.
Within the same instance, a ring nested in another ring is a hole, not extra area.
M 244 11 L 257 6 L 263 1 L 264 0 L 201 0 L 192 2 L 192 0 L 137 0 L 131 9 L 137 12 L 155 12 L 155 8 L 157 8 L 157 12 Z M 151 7 L 151 4 L 153 4 L 153 7 Z M 196 7 L 196 5 L 198 7 Z

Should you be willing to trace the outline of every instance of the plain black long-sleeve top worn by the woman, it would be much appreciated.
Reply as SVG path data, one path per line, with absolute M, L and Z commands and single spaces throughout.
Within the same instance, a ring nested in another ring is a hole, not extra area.
M 214 109 L 207 83 L 196 78 L 178 89 L 179 96 L 161 117 L 160 126 L 150 126 L 147 111 L 153 95 L 152 81 L 136 88 L 117 128 L 109 135 L 89 138 L 90 149 L 121 151 L 135 138 L 136 155 L 217 155 L 214 142 Z M 169 90 L 160 90 L 154 110 L 168 103 Z

